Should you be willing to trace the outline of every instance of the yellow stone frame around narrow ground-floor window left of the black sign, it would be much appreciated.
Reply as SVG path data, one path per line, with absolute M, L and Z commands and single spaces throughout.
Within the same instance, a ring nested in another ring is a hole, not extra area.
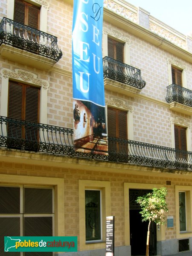
M 102 191 L 102 240 L 101 241 L 86 241 L 85 230 L 85 190 L 101 190 Z M 106 216 L 111 216 L 111 183 L 110 181 L 97 180 L 79 180 L 79 236 L 80 250 L 94 250 L 105 247 L 106 236 Z

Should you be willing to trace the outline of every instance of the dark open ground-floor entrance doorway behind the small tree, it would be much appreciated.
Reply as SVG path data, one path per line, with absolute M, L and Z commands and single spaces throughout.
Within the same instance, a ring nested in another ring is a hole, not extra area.
M 151 192 L 146 189 L 129 189 L 129 221 L 131 255 L 145 255 L 148 221 L 142 222 L 140 205 L 135 202 L 138 196 Z M 151 223 L 149 255 L 157 255 L 157 229 L 156 224 Z

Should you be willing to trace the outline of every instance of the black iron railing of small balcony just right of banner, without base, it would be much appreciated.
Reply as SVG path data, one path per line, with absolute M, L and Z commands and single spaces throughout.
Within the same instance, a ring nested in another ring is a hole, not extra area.
M 104 79 L 107 77 L 138 89 L 143 89 L 146 84 L 141 77 L 141 70 L 107 56 L 103 58 L 103 76 Z

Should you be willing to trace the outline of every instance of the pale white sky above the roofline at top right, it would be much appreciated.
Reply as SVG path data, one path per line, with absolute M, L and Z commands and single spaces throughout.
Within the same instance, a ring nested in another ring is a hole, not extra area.
M 141 7 L 150 15 L 189 35 L 192 33 L 192 0 L 126 0 L 136 7 Z

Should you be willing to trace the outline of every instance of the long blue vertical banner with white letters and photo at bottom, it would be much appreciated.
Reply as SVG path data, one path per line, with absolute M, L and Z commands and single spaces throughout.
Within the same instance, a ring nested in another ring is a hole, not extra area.
M 75 150 L 108 154 L 102 65 L 103 0 L 74 0 L 73 128 Z

